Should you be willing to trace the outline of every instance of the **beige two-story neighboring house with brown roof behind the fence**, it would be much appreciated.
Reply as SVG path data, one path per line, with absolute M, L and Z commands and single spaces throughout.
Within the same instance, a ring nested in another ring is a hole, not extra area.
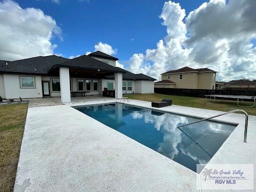
M 161 74 L 155 88 L 215 89 L 216 71 L 209 68 L 182 67 Z

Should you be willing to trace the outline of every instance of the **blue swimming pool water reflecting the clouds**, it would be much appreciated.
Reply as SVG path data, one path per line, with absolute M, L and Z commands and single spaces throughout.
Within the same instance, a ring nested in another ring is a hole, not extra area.
M 193 171 L 196 171 L 196 164 L 206 164 L 210 160 L 235 128 L 213 121 L 177 128 L 198 118 L 121 103 L 76 109 Z

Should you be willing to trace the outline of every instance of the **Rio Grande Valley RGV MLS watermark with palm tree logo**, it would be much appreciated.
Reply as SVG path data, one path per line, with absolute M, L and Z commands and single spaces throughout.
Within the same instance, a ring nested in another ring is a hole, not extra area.
M 253 164 L 196 165 L 197 189 L 253 189 Z

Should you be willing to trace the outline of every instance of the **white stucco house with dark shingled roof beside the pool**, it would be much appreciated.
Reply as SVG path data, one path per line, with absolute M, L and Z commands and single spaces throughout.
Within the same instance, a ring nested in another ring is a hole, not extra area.
M 152 93 L 154 78 L 116 67 L 118 58 L 95 51 L 73 59 L 56 55 L 15 61 L 0 60 L 0 96 L 33 98 L 102 95 L 104 88 L 115 98 L 123 93 Z

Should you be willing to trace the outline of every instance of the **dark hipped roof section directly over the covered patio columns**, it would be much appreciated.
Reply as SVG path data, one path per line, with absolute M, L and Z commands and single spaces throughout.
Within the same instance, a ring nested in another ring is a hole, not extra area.
M 53 67 L 69 67 L 69 68 L 77 68 L 77 69 L 86 69 L 86 70 L 100 70 L 100 71 L 106 71 L 106 72 L 122 72 L 124 73 L 125 70 L 119 68 L 119 67 L 114 67 L 110 64 L 106 64 L 104 62 L 101 62 L 100 60 L 97 60 L 95 58 L 92 58 L 87 55 L 81 55 L 78 57 L 75 57 L 73 59 L 69 59 L 65 62 L 58 63 L 53 65 L 49 71 Z

